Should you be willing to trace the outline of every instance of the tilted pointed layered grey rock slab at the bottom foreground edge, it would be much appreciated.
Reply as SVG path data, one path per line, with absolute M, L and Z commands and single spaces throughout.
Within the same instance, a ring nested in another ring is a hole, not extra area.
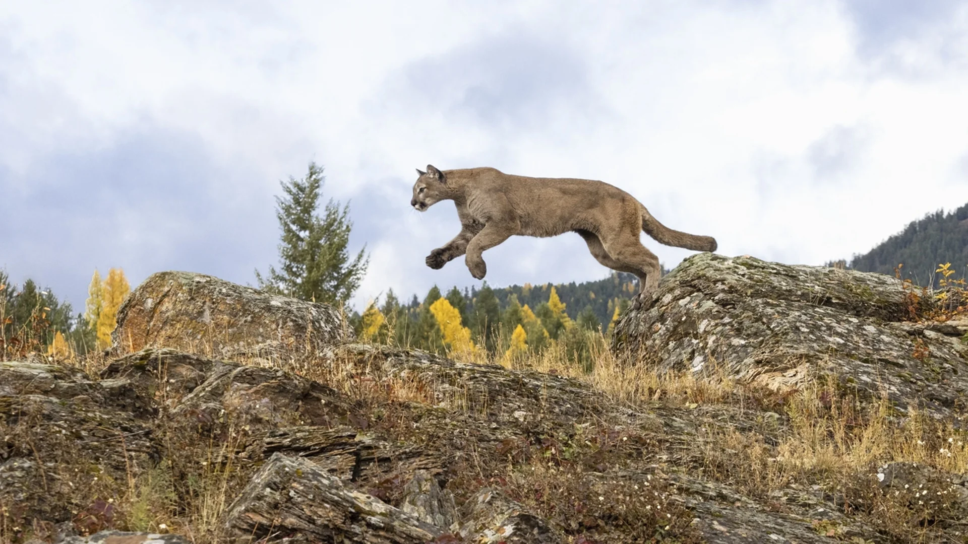
M 310 461 L 279 453 L 258 470 L 227 519 L 240 536 L 289 542 L 423 544 L 443 533 Z

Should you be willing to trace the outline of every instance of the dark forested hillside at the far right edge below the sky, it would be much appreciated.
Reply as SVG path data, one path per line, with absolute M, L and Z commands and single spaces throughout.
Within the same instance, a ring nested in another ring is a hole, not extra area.
M 851 258 L 849 267 L 862 272 L 893 274 L 901 268 L 904 278 L 926 286 L 939 264 L 952 263 L 955 277 L 968 275 L 968 204 L 953 212 L 938 210 L 911 222 L 864 255 Z

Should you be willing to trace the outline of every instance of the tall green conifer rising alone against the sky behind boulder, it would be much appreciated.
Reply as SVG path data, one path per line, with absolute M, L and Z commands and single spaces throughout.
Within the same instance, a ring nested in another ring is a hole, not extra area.
M 366 246 L 352 260 L 347 250 L 352 223 L 349 205 L 330 199 L 323 216 L 316 213 L 324 177 L 309 164 L 303 179 L 280 182 L 285 196 L 276 197 L 282 229 L 280 269 L 269 266 L 268 278 L 256 271 L 258 287 L 303 300 L 344 305 L 359 287 L 370 259 Z

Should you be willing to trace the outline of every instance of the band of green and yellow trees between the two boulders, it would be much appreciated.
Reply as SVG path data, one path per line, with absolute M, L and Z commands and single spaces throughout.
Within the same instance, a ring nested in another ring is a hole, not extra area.
M 576 306 L 583 300 L 599 303 L 569 309 L 560 292 Z M 414 295 L 409 302 L 391 289 L 382 303 L 371 302 L 350 322 L 359 338 L 379 344 L 502 361 L 559 349 L 588 366 L 592 345 L 628 307 L 630 292 L 638 292 L 637 279 L 620 273 L 579 285 L 492 288 L 485 282 L 479 289 L 451 287 L 446 293 L 435 286 L 423 300 Z

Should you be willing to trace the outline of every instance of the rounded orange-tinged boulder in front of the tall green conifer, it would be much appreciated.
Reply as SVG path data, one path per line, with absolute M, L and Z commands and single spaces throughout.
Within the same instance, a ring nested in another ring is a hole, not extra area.
M 115 355 L 177 348 L 227 359 L 286 363 L 342 344 L 352 333 L 340 312 L 190 272 L 151 275 L 118 310 Z

